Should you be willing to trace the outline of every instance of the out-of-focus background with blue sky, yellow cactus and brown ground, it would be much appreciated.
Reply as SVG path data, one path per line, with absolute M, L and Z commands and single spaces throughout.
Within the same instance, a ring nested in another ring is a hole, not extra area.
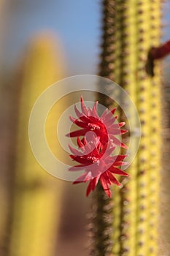
M 169 10 L 167 1 L 162 42 L 170 38 Z M 31 108 L 42 91 L 61 78 L 97 74 L 101 3 L 0 0 L 0 33 L 0 255 L 88 255 L 85 226 L 90 199 L 85 186 L 72 186 L 45 173 L 31 154 L 27 134 Z M 168 110 L 169 61 L 163 60 L 162 70 Z M 53 122 L 66 109 L 66 100 L 60 105 L 51 113 Z M 49 120 L 48 136 L 56 148 L 53 122 Z M 163 191 L 166 205 L 168 194 Z

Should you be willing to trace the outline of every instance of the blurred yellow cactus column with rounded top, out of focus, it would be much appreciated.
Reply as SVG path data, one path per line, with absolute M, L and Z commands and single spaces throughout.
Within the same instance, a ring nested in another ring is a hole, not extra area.
M 22 69 L 9 255 L 50 256 L 57 239 L 62 181 L 36 162 L 28 140 L 28 119 L 39 94 L 63 77 L 61 49 L 56 48 L 55 39 L 48 34 L 34 39 Z M 50 149 L 61 156 L 53 131 L 62 111 L 58 106 L 47 118 L 46 138 Z

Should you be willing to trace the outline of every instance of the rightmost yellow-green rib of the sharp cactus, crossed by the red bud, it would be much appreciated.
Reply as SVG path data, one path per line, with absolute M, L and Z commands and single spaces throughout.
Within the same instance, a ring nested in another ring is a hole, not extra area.
M 160 45 L 161 1 L 150 5 L 150 37 L 152 46 Z M 150 255 L 158 255 L 158 216 L 161 170 L 161 67 L 155 63 L 154 77 L 150 80 Z M 153 171 L 155 170 L 155 171 Z

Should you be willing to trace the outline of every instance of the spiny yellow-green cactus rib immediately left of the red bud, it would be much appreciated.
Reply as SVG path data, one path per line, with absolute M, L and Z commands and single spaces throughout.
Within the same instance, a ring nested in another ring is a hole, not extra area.
M 138 154 L 137 177 L 137 222 L 136 222 L 136 255 L 149 254 L 150 246 L 150 78 L 147 77 L 144 64 L 150 48 L 150 3 L 142 2 L 137 7 L 138 45 L 136 57 L 137 105 L 142 124 L 142 138 Z M 149 114 L 148 114 L 149 113 Z

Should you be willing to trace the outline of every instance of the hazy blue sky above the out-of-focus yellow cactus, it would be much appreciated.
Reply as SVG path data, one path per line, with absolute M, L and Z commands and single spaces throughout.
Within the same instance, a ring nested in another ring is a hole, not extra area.
M 4 34 L 4 67 L 13 67 L 39 31 L 61 39 L 67 74 L 96 74 L 101 39 L 101 0 L 8 0 Z M 163 39 L 170 37 L 169 3 L 165 5 Z

